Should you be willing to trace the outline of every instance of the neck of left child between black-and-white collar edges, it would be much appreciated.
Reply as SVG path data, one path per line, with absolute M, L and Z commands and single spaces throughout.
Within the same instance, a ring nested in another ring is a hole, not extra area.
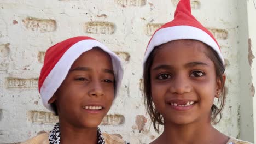
M 97 143 L 97 127 L 82 128 L 74 126 L 67 122 L 62 122 L 60 119 L 60 134 L 61 144 L 66 143 Z

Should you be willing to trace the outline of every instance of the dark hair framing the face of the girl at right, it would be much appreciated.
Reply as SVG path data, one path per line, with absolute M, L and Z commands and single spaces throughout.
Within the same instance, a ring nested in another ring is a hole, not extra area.
M 160 45 L 161 46 L 161 45 Z M 151 91 L 151 82 L 150 82 L 150 68 L 152 67 L 155 53 L 158 51 L 160 46 L 156 46 L 154 50 L 148 56 L 147 61 L 144 64 L 144 71 L 143 71 L 143 96 L 144 96 L 144 104 L 146 105 L 146 109 L 149 113 L 150 119 L 153 122 L 154 129 L 159 133 L 159 125 L 164 125 L 164 119 L 162 115 L 155 109 L 155 106 L 152 101 L 152 91 Z M 211 122 L 213 124 L 219 123 L 220 119 L 222 118 L 222 110 L 225 105 L 226 101 L 226 93 L 225 93 L 225 83 L 223 80 L 222 75 L 225 71 L 225 66 L 222 63 L 222 60 L 218 56 L 218 53 L 214 51 L 210 46 L 207 46 L 207 57 L 211 59 L 214 63 L 215 72 L 216 72 L 216 79 L 219 79 L 222 84 L 222 89 L 220 93 L 220 97 L 218 99 L 218 103 L 220 101 L 220 107 L 218 108 L 216 105 L 212 105 L 211 108 Z M 219 115 L 219 119 L 216 120 L 217 116 Z

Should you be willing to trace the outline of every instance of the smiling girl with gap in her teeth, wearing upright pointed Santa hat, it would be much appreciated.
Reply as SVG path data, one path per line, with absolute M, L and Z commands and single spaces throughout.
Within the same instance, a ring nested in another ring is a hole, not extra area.
M 143 70 L 148 113 L 156 131 L 164 125 L 152 143 L 248 143 L 211 125 L 226 99 L 224 59 L 216 39 L 191 15 L 189 0 L 181 0 L 174 20 L 152 36 Z

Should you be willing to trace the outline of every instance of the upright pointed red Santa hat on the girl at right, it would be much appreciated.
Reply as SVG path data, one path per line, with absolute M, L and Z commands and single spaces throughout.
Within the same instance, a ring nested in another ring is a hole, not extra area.
M 224 64 L 224 58 L 216 39 L 211 32 L 203 27 L 191 14 L 190 1 L 181 0 L 177 5 L 174 20 L 162 25 L 155 31 L 150 39 L 143 61 L 143 67 L 154 47 L 168 43 L 169 41 L 181 39 L 199 40 L 207 44 L 218 53 L 218 56 Z

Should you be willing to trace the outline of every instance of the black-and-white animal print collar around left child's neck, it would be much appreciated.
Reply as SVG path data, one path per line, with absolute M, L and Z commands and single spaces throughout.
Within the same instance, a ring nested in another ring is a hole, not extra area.
M 60 124 L 56 123 L 53 130 L 49 133 L 49 142 L 50 144 L 60 144 Z M 100 128 L 98 128 L 98 144 L 105 144 L 104 137 L 101 133 Z

